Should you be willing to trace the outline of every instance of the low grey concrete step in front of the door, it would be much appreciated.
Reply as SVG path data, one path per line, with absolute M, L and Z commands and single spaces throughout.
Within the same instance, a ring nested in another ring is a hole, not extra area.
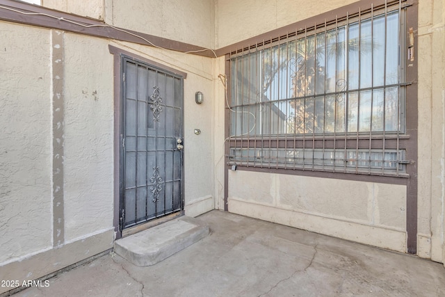
M 118 239 L 114 251 L 136 266 L 151 266 L 191 246 L 209 234 L 209 225 L 181 216 L 156 227 Z

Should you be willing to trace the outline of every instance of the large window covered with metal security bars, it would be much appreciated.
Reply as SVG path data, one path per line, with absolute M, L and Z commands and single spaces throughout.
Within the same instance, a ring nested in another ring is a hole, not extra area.
M 406 177 L 405 8 L 372 7 L 229 56 L 229 164 Z

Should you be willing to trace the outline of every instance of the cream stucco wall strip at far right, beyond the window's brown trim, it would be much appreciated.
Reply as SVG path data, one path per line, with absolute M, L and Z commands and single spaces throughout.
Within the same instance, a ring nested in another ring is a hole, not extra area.
M 444 257 L 445 6 L 419 1 L 419 255 Z

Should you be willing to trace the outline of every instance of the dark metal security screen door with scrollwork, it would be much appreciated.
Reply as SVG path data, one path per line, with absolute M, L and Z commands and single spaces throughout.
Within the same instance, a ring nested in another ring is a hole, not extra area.
M 122 56 L 121 230 L 182 209 L 183 77 Z

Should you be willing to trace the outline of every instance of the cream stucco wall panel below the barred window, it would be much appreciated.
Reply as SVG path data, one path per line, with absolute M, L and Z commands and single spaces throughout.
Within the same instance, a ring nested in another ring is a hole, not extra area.
M 229 211 L 406 250 L 406 186 L 236 170 L 229 171 Z M 385 241 L 389 234 L 397 235 Z

